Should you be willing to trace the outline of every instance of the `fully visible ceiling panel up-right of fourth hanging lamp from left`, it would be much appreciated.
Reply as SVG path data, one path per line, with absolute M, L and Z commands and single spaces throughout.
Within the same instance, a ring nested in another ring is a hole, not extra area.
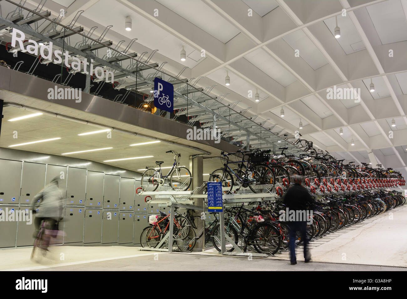
M 261 48 L 245 55 L 244 58 L 284 87 L 297 80 L 288 70 L 283 68 L 280 63 Z

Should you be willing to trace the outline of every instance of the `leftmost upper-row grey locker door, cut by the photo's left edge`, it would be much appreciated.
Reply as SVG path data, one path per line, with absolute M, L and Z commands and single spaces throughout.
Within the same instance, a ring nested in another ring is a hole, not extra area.
M 22 162 L 0 159 L 0 203 L 20 202 Z

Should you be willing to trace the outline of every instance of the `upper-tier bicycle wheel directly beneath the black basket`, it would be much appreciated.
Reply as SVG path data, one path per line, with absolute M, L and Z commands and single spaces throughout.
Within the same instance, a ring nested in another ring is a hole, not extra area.
M 273 192 L 275 184 L 275 176 L 273 170 L 266 165 L 254 166 L 252 171 L 247 170 L 247 173 L 251 172 L 249 178 L 249 188 L 254 193 L 267 193 Z

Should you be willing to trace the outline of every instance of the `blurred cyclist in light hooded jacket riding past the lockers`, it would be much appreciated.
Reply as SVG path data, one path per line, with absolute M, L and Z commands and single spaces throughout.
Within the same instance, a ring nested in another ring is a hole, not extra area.
M 58 188 L 58 179 L 59 176 L 53 178 L 52 181 L 33 198 L 31 210 L 33 210 L 33 213 L 36 213 L 34 220 L 34 238 L 37 238 L 43 220 L 50 223 L 50 229 L 54 231 L 59 230 L 59 221 L 62 218 L 63 211 L 63 195 Z M 54 237 L 55 236 L 56 234 Z

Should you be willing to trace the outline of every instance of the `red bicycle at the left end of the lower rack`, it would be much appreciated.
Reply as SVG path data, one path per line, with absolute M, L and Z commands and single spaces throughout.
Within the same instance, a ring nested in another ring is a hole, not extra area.
M 160 244 L 162 238 L 169 231 L 171 214 L 164 214 L 160 212 L 161 219 L 159 219 L 153 226 L 144 228 L 140 234 L 141 247 L 156 248 Z M 173 227 L 173 240 L 174 244 L 180 251 L 192 251 L 196 244 L 195 230 L 191 229 L 190 222 L 184 216 L 174 216 Z M 168 248 L 168 239 L 159 247 Z

